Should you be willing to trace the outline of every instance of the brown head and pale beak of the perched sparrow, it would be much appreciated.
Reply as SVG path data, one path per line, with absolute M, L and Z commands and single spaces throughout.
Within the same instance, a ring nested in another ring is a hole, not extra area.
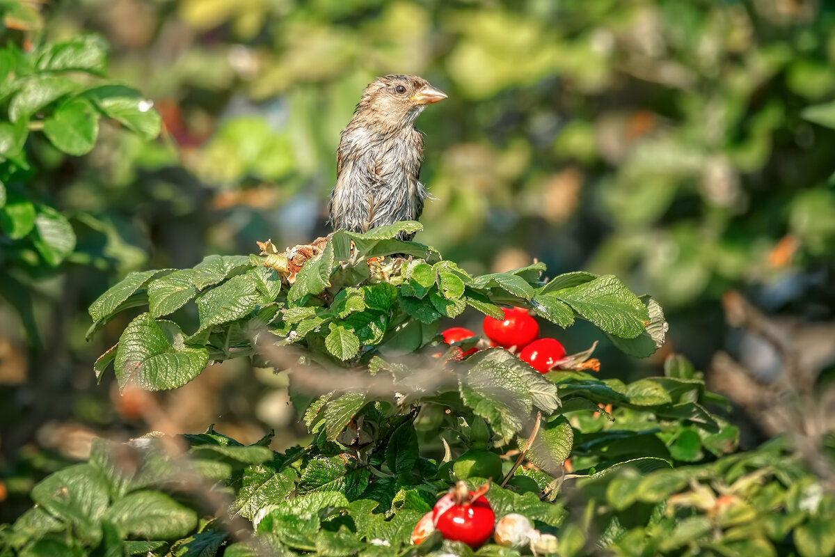
M 446 98 L 424 78 L 386 75 L 366 87 L 355 114 L 383 129 L 401 129 L 411 125 L 427 104 Z

